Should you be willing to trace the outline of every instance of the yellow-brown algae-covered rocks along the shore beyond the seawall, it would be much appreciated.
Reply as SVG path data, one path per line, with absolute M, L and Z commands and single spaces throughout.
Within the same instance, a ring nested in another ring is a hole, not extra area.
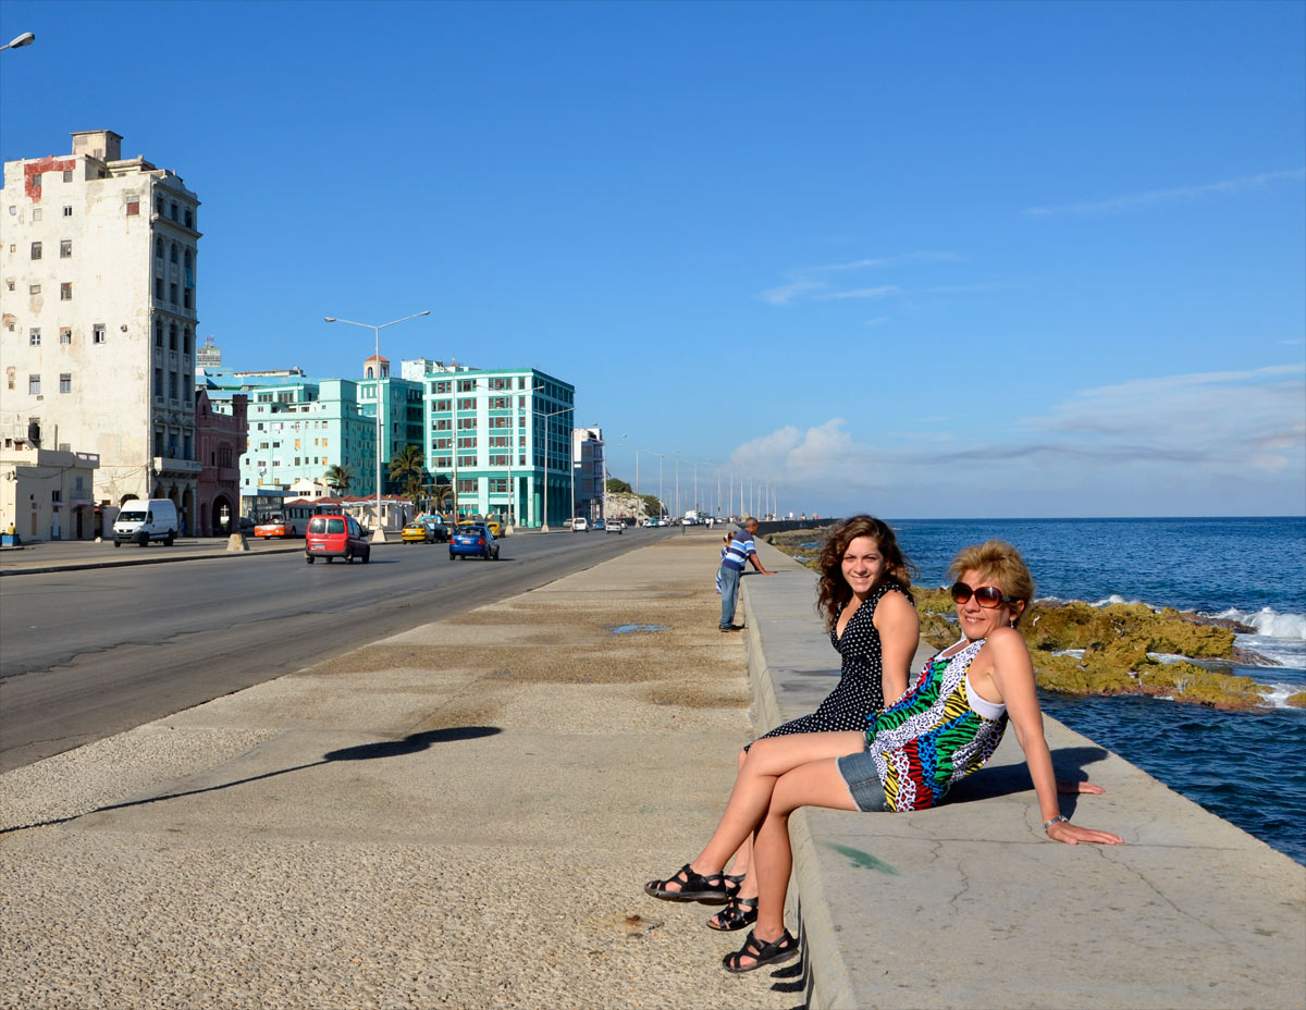
M 772 546 L 815 568 L 829 528 L 773 533 Z M 956 640 L 956 608 L 944 588 L 913 587 L 921 638 L 936 648 Z M 1254 628 L 1173 608 L 1143 604 L 1092 606 L 1081 601 L 1034 602 L 1021 621 L 1038 686 L 1076 695 L 1149 695 L 1225 711 L 1267 707 L 1268 687 L 1228 672 L 1233 665 L 1275 666 L 1273 660 L 1234 645 Z M 1224 669 L 1221 669 L 1224 668 Z M 1306 708 L 1306 692 L 1286 703 Z

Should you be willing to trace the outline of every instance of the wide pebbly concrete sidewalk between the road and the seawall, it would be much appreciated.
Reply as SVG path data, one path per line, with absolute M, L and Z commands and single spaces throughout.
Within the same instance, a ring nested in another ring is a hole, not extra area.
M 641 892 L 751 736 L 716 541 L 0 777 L 4 827 L 59 822 L 0 834 L 0 1006 L 793 1007 Z

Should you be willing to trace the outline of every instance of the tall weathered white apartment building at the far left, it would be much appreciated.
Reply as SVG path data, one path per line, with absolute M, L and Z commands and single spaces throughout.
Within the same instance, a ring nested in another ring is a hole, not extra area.
M 171 498 L 191 530 L 200 201 L 118 133 L 72 137 L 4 166 L 3 444 L 95 453 L 97 502 Z

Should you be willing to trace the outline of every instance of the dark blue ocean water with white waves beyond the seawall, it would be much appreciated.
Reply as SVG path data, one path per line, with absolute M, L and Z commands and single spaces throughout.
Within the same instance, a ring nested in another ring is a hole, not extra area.
M 1255 627 L 1237 644 L 1279 666 L 1234 666 L 1272 689 L 1263 712 L 1157 698 L 1042 692 L 1050 716 L 1306 864 L 1306 517 L 895 520 L 918 583 L 946 585 L 960 547 L 1013 544 L 1038 597 L 1174 606 Z

